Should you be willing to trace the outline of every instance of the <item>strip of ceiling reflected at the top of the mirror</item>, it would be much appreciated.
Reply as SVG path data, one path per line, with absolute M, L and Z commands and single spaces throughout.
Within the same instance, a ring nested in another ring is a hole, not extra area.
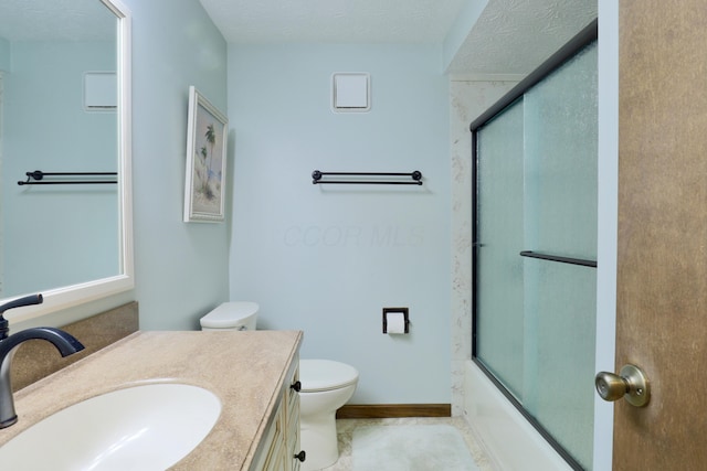
M 0 38 L 8 41 L 105 41 L 115 29 L 99 0 L 0 0 Z

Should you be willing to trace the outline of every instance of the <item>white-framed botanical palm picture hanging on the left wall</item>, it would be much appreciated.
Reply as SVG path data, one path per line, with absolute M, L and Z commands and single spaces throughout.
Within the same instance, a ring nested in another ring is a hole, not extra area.
M 184 222 L 223 221 L 228 118 L 189 87 Z

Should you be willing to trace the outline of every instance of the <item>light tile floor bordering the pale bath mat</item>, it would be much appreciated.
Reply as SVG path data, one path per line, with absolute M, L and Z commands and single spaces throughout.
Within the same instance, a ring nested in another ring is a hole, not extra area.
M 338 439 L 339 439 L 339 460 L 331 467 L 325 468 L 326 471 L 351 471 L 351 440 L 354 430 L 361 426 L 387 426 L 387 425 L 422 425 L 422 424 L 447 424 L 456 427 L 464 441 L 468 447 L 474 461 L 482 471 L 494 471 L 488 458 L 484 454 L 482 447 L 478 445 L 472 431 L 463 417 L 445 417 L 445 418 L 397 418 L 397 419 L 339 419 L 336 421 Z

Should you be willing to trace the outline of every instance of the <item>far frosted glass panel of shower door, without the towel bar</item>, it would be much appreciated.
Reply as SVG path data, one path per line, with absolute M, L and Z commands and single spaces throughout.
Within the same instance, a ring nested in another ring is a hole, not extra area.
M 476 356 L 518 400 L 524 390 L 523 100 L 478 135 Z M 487 314 L 488 313 L 488 314 Z

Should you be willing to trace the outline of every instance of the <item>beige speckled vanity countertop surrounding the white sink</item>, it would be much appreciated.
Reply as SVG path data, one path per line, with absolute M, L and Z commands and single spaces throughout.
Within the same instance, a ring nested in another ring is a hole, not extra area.
M 19 420 L 0 430 L 0 446 L 89 397 L 182 383 L 214 393 L 222 410 L 209 436 L 172 469 L 246 470 L 300 342 L 299 331 L 137 332 L 18 392 Z

